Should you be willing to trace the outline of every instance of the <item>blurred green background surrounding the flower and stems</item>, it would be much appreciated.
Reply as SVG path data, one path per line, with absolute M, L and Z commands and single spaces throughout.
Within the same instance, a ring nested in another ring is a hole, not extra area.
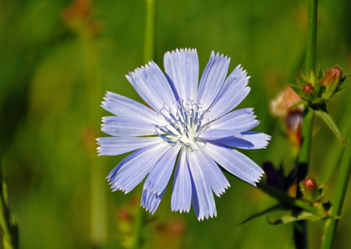
M 272 136 L 267 149 L 243 153 L 259 165 L 284 160 L 291 169 L 291 145 L 268 103 L 305 69 L 307 1 L 156 5 L 155 58 L 149 59 L 163 68 L 166 51 L 196 47 L 200 74 L 212 50 L 231 57 L 229 71 L 242 64 L 252 76 L 251 92 L 239 107 L 254 107 L 261 120 L 255 130 Z M 351 2 L 320 0 L 318 9 L 317 64 L 351 73 Z M 100 118 L 109 115 L 99 107 L 105 91 L 143 103 L 124 75 L 147 62 L 144 28 L 144 1 L 0 1 L 0 152 L 21 248 L 122 248 L 130 240 L 141 188 L 110 191 L 104 178 L 126 155 L 96 157 L 94 138 L 105 136 L 99 130 Z M 350 96 L 348 89 L 329 102 L 344 137 Z M 344 147 L 318 118 L 314 128 L 310 172 L 330 184 L 329 200 Z M 193 210 L 171 212 L 171 178 L 142 231 L 145 248 L 293 248 L 291 224 L 273 226 L 264 216 L 236 225 L 277 202 L 226 176 L 231 188 L 215 197 L 218 217 L 204 222 Z M 347 193 L 335 248 L 351 243 L 350 208 Z M 323 226 L 309 223 L 311 248 L 320 247 Z

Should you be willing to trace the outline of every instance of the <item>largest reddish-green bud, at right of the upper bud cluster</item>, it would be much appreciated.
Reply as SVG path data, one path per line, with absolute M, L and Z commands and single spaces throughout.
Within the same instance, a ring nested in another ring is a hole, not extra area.
M 338 66 L 331 68 L 325 74 L 323 80 L 321 81 L 322 85 L 325 86 L 325 92 L 323 93 L 322 97 L 331 98 L 333 96 L 343 81 L 342 75 L 343 71 Z

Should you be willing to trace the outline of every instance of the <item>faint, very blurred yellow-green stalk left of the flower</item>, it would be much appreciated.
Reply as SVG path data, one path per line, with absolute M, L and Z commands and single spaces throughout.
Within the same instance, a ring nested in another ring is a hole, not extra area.
M 87 155 L 90 162 L 90 228 L 94 248 L 100 248 L 106 240 L 106 188 L 105 172 L 96 154 L 95 131 L 99 129 L 98 103 L 101 101 L 99 52 L 94 36 L 83 26 L 78 31 L 85 66 L 87 89 L 87 127 L 85 127 Z M 100 159 L 100 158 L 99 158 Z

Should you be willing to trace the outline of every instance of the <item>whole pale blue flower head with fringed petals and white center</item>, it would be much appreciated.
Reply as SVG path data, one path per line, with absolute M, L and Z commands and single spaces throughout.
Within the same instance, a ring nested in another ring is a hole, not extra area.
M 189 212 L 192 204 L 200 220 L 217 215 L 213 193 L 230 187 L 218 165 L 256 186 L 263 170 L 232 147 L 265 148 L 270 136 L 249 131 L 259 124 L 252 108 L 230 112 L 250 87 L 240 65 L 226 77 L 229 63 L 212 52 L 198 84 L 196 49 L 177 49 L 164 56 L 166 76 L 153 61 L 129 72 L 151 108 L 107 92 L 101 106 L 116 116 L 102 118 L 101 130 L 113 137 L 97 139 L 99 155 L 137 150 L 107 176 L 113 191 L 130 192 L 147 176 L 140 204 L 153 214 L 176 164 L 171 209 Z

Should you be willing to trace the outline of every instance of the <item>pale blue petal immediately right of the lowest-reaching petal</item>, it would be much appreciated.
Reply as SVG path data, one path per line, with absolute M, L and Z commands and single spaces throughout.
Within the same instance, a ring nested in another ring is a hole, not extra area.
M 214 194 L 218 197 L 223 195 L 225 190 L 230 187 L 230 184 L 217 163 L 201 148 L 194 151 L 194 155 L 199 165 L 201 165 L 201 171 L 204 173 L 205 179 L 210 184 Z

